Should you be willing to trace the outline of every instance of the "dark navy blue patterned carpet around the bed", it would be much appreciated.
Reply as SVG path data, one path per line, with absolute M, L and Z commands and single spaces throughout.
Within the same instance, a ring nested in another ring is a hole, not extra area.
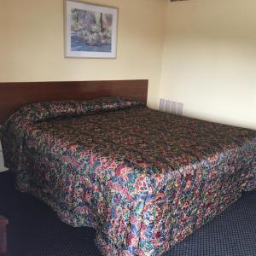
M 62 223 L 44 203 L 0 173 L 0 214 L 9 218 L 9 256 L 97 256 L 95 230 Z M 256 256 L 256 191 L 172 247 L 164 256 Z

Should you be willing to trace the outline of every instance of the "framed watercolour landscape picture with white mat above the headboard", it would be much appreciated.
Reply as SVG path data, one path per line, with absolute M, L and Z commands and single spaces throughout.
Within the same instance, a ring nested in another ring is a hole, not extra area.
M 65 55 L 116 58 L 118 9 L 65 0 Z

